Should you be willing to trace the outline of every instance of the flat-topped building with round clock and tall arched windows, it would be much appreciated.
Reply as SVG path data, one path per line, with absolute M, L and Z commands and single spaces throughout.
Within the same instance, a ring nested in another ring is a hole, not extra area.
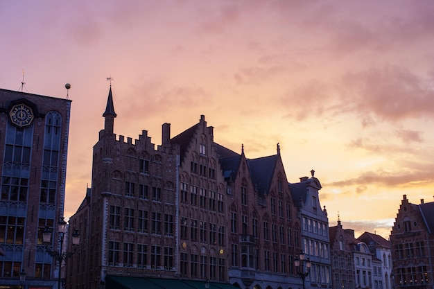
M 71 100 L 0 89 L 0 287 L 57 288 Z M 20 273 L 26 283 L 20 283 Z

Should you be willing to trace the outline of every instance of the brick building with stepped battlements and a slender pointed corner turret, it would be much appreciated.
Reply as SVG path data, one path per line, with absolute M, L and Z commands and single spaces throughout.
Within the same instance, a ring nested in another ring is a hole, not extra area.
M 175 277 L 179 153 L 166 138 L 155 148 L 146 130 L 134 142 L 116 137 L 111 87 L 103 117 L 92 188 L 70 219 L 82 233 L 67 288 L 104 288 L 108 275 Z

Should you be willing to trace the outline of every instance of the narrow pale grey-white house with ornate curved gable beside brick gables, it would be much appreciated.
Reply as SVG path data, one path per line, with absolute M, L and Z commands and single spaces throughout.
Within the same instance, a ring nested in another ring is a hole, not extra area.
M 311 177 L 300 178 L 299 183 L 289 184 L 297 216 L 301 220 L 302 250 L 311 260 L 307 287 L 329 288 L 332 286 L 327 210 L 320 205 L 320 181 L 311 170 Z

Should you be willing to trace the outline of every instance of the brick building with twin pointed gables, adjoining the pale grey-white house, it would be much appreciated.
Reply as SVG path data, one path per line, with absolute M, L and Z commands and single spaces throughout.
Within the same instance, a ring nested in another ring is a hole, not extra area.
M 230 216 L 229 281 L 239 288 L 297 288 L 294 267 L 300 253 L 300 219 L 277 154 L 258 159 L 220 159 Z

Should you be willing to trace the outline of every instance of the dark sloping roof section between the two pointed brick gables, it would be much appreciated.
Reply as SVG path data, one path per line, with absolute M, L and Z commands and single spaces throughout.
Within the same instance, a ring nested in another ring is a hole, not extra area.
M 266 195 L 270 191 L 272 175 L 275 173 L 277 155 L 249 159 L 248 165 L 252 182 L 259 195 Z

